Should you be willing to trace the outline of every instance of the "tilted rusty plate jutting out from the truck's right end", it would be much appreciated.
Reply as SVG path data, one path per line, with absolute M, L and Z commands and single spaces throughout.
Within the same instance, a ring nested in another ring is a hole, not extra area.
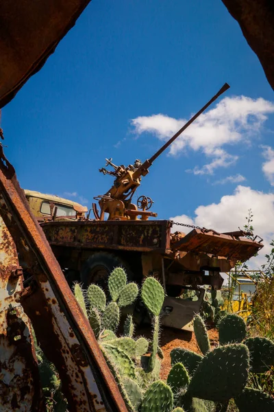
M 264 245 L 248 238 L 217 234 L 213 231 L 203 232 L 193 229 L 184 238 L 172 244 L 171 249 L 185 252 L 202 252 L 245 262 Z

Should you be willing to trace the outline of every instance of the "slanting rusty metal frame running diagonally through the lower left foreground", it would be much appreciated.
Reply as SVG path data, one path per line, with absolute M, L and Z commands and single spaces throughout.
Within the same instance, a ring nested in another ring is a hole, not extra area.
M 34 277 L 18 300 L 62 380 L 70 411 L 127 411 L 88 320 L 79 308 L 42 229 L 29 211 L 14 168 L 0 147 L 0 214 Z

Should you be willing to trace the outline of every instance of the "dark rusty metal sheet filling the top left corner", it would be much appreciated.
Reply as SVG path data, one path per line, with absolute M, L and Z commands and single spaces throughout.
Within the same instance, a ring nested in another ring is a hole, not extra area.
M 89 2 L 0 1 L 0 108 L 41 69 Z

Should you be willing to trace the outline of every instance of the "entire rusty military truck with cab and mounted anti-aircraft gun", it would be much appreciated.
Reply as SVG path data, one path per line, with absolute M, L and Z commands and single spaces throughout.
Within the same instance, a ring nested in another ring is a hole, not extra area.
M 192 227 L 188 234 L 172 233 L 171 229 L 178 224 L 157 220 L 157 213 L 151 211 L 151 198 L 142 195 L 136 205 L 132 203 L 153 161 L 228 88 L 225 84 L 145 162 L 136 159 L 125 166 L 106 159 L 99 172 L 113 176 L 114 183 L 107 192 L 95 196 L 97 203 L 92 204 L 88 214 L 85 214 L 87 209 L 71 201 L 25 191 L 71 286 L 80 281 L 86 287 L 95 283 L 106 289 L 108 276 L 116 266 L 123 266 L 129 279 L 139 284 L 153 275 L 166 291 L 162 324 L 192 330 L 193 314 L 199 312 L 203 302 L 203 286 L 220 289 L 223 284 L 220 273 L 234 268 L 237 261 L 245 262 L 262 248 L 262 240 L 256 241 L 252 233 L 240 230 L 218 233 L 214 229 Z M 183 299 L 188 289 L 197 290 L 197 301 Z

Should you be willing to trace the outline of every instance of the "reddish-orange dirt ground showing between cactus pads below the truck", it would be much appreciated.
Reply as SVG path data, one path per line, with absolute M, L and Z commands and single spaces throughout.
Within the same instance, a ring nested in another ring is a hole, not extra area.
M 210 338 L 210 345 L 215 347 L 218 344 L 218 332 L 215 328 L 208 327 L 208 336 Z M 138 330 L 138 336 L 142 335 L 151 339 L 151 329 L 144 328 Z M 160 346 L 164 352 L 164 359 L 162 360 L 160 378 L 166 379 L 171 369 L 171 357 L 169 354 L 175 347 L 185 347 L 188 350 L 201 354 L 194 332 L 186 332 L 184 330 L 176 330 L 171 328 L 162 328 L 160 336 Z

